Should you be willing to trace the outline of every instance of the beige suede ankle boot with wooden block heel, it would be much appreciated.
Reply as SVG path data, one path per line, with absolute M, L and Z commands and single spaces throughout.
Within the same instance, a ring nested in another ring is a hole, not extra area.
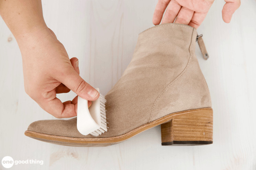
M 25 135 L 70 146 L 107 146 L 161 125 L 162 145 L 212 143 L 212 108 L 195 55 L 197 31 L 162 24 L 143 31 L 131 63 L 106 95 L 108 131 L 78 132 L 76 118 L 31 123 Z

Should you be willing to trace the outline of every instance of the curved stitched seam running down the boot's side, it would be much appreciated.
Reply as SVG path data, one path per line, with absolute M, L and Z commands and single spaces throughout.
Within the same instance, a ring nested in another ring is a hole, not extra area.
M 162 97 L 162 95 L 164 94 L 164 92 L 173 84 L 175 83 L 187 70 L 188 66 L 189 66 L 189 63 L 191 61 L 191 44 L 192 44 L 192 37 L 193 37 L 193 32 L 195 31 L 195 29 L 193 28 L 192 30 L 192 34 L 191 34 L 191 41 L 190 41 L 190 45 L 189 45 L 189 60 L 188 60 L 188 63 L 186 65 L 186 67 L 184 68 L 184 70 L 181 72 L 180 75 L 178 75 L 174 80 L 172 80 L 165 88 L 164 90 L 159 94 L 159 96 L 157 97 L 157 99 L 155 100 L 154 102 L 154 105 L 151 109 L 151 114 L 149 116 L 149 120 L 148 120 L 148 123 L 151 122 L 151 119 L 152 119 L 152 116 L 153 116 L 153 112 L 154 112 L 154 109 L 155 109 L 155 106 L 157 104 L 157 101 L 160 99 L 160 97 Z

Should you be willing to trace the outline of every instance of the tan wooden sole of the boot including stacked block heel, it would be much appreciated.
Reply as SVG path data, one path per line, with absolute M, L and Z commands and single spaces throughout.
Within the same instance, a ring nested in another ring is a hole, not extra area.
M 109 146 L 130 139 L 147 129 L 161 125 L 162 145 L 212 144 L 213 110 L 200 108 L 176 112 L 142 125 L 120 136 L 107 138 L 74 138 L 33 131 L 25 135 L 40 141 L 66 146 Z

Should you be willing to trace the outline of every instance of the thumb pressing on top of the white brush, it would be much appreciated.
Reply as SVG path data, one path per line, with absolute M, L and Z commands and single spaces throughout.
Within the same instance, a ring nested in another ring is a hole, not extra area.
M 89 101 L 94 101 L 99 98 L 99 92 L 82 79 L 73 66 L 69 67 L 64 73 L 65 75 L 62 74 L 62 76 L 58 78 L 58 81 L 74 91 L 78 96 Z

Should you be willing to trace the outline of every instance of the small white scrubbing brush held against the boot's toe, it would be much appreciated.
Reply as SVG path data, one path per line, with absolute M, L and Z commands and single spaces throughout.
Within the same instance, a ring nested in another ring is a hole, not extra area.
M 96 90 L 100 92 L 98 88 L 96 88 Z M 105 99 L 105 96 L 100 94 L 99 99 L 92 101 L 92 104 L 88 109 L 88 101 L 78 96 L 77 130 L 81 134 L 99 136 L 100 134 L 107 132 L 106 102 L 107 100 Z

